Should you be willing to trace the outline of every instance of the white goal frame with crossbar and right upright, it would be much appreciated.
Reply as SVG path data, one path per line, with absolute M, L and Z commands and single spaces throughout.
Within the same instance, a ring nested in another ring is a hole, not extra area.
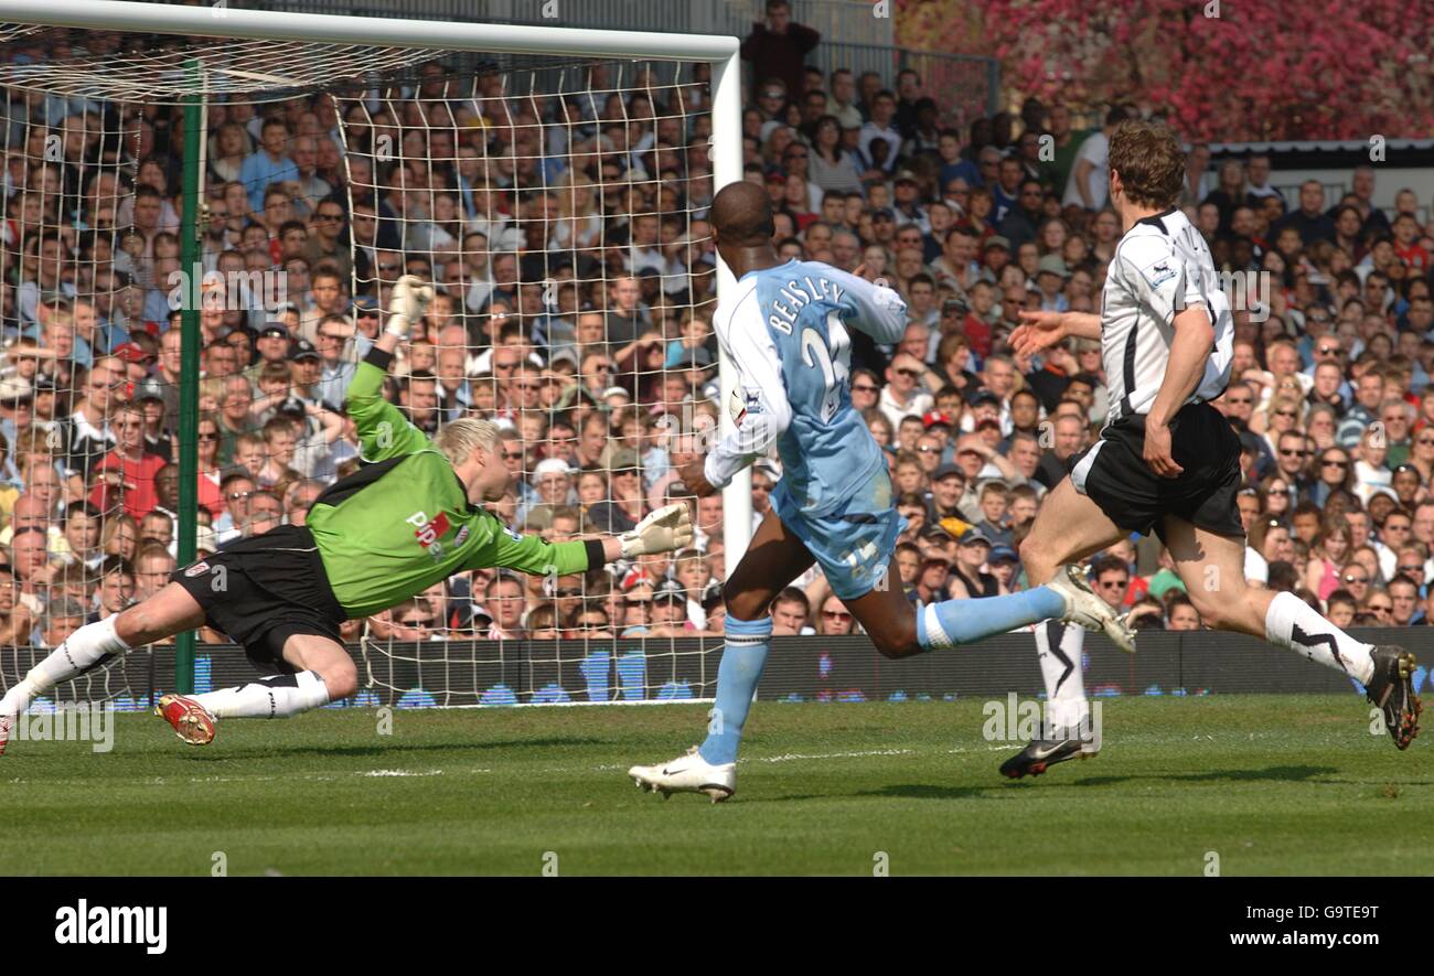
M 485 54 L 708 62 L 713 89 L 713 189 L 716 192 L 741 179 L 741 63 L 736 37 L 234 10 L 222 0 L 215 6 L 196 7 L 129 0 L 0 0 L 0 21 L 235 40 L 381 43 L 386 47 Z M 731 272 L 718 261 L 718 297 L 731 294 L 733 284 Z M 726 403 L 731 393 L 733 370 L 726 357 L 720 364 L 720 381 L 721 423 L 727 429 L 731 418 Z M 726 566 L 730 572 L 741 560 L 751 537 L 750 470 L 733 479 L 723 493 L 723 502 Z

